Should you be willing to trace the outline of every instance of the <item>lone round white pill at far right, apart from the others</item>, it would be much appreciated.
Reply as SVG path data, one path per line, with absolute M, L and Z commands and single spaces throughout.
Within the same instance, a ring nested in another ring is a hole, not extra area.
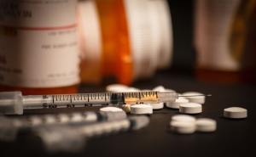
M 231 107 L 224 109 L 224 117 L 226 118 L 246 118 L 247 117 L 247 109 L 239 108 L 239 107 Z

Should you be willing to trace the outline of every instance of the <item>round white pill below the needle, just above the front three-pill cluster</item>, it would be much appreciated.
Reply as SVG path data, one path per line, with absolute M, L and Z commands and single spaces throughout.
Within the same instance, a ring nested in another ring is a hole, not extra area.
M 179 112 L 185 113 L 185 114 L 199 114 L 201 113 L 201 104 L 198 104 L 198 103 L 180 104 Z

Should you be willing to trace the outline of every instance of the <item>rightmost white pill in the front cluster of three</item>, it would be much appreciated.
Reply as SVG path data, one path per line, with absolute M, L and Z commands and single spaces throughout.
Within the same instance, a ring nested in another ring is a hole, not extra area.
M 216 130 L 216 121 L 209 118 L 199 118 L 195 121 L 197 132 L 214 132 Z

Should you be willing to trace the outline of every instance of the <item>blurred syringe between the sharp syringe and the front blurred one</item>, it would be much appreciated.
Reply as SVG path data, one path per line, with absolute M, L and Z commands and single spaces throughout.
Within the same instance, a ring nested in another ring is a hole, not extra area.
M 12 142 L 18 132 L 32 131 L 46 126 L 78 126 L 102 121 L 123 120 L 125 111 L 74 112 L 55 115 L 27 115 L 19 118 L 0 116 L 0 140 Z

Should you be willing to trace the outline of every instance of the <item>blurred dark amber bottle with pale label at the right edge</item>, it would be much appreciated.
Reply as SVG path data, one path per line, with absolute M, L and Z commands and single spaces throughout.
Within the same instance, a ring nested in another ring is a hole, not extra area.
M 256 82 L 254 0 L 195 0 L 195 74 L 208 81 Z

